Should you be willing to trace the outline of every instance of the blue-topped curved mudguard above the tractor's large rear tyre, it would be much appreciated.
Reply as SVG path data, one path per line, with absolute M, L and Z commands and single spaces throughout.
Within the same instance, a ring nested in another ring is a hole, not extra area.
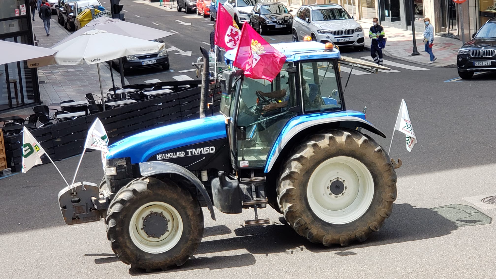
M 320 115 L 303 115 L 292 118 L 286 123 L 286 126 L 282 129 L 281 133 L 277 137 L 274 145 L 269 152 L 267 157 L 267 162 L 265 164 L 265 173 L 268 173 L 274 166 L 279 154 L 286 146 L 286 144 L 297 136 L 299 133 L 305 129 L 311 128 L 316 125 L 325 125 L 339 122 L 339 127 L 350 128 L 352 126 L 362 127 L 369 130 L 370 132 L 386 138 L 384 133 L 380 132 L 375 126 L 373 126 L 367 120 L 360 118 L 364 117 L 363 113 L 355 111 L 344 111 L 342 113 L 333 113 L 331 117 L 329 114 Z

